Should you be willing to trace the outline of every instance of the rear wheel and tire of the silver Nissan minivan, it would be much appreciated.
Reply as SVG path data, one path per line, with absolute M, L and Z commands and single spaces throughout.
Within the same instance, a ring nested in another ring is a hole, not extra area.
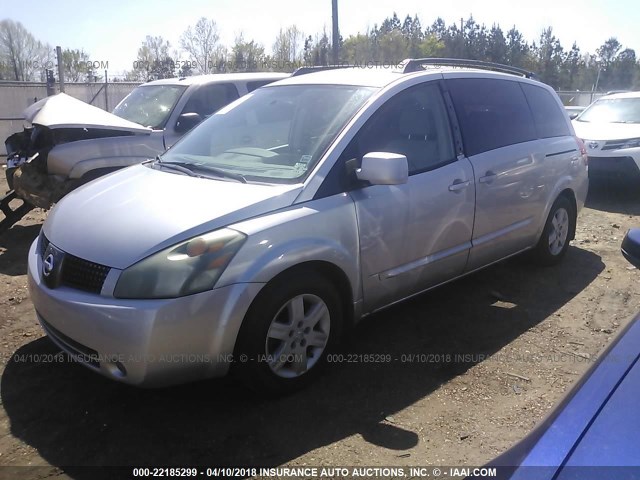
M 570 233 L 575 231 L 576 214 L 566 197 L 558 197 L 551 206 L 540 240 L 533 251 L 535 261 L 544 266 L 560 263 L 569 248 Z

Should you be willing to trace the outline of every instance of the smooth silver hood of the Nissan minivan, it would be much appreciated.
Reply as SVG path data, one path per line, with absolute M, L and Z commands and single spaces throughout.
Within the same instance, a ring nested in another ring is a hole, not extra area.
M 301 189 L 135 165 L 66 195 L 51 211 L 43 232 L 65 252 L 124 269 L 183 240 L 287 207 Z

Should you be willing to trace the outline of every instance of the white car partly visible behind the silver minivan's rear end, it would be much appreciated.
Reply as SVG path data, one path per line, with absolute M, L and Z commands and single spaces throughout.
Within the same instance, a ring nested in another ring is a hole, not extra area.
M 640 182 L 640 92 L 599 98 L 573 121 L 589 176 Z

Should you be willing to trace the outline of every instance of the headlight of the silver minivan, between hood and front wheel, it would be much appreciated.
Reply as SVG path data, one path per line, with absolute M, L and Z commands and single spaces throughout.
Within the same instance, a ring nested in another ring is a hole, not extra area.
M 140 260 L 120 275 L 116 298 L 175 298 L 213 288 L 246 236 L 224 228 Z

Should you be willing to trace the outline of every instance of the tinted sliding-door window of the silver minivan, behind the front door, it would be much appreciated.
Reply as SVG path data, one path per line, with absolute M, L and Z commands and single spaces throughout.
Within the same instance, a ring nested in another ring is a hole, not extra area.
M 468 156 L 538 138 L 519 82 L 456 78 L 447 85 Z

